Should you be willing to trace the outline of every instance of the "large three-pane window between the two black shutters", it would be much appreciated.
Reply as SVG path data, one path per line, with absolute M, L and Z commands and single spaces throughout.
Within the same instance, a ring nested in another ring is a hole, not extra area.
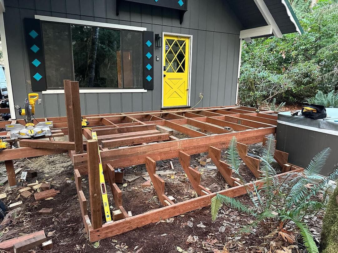
M 142 88 L 142 32 L 43 23 L 47 88 Z

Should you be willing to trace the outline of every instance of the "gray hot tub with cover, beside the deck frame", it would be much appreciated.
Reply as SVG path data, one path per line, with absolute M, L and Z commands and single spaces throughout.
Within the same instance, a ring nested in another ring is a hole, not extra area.
M 331 172 L 338 163 L 338 108 L 326 108 L 327 118 L 312 120 L 278 113 L 277 149 L 289 153 L 289 162 L 306 167 L 310 159 L 324 148 L 331 148 L 322 175 Z

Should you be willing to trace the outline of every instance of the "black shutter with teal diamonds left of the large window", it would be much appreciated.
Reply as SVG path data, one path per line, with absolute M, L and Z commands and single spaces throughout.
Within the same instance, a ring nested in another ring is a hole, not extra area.
M 46 91 L 45 57 L 39 19 L 24 19 L 32 91 Z

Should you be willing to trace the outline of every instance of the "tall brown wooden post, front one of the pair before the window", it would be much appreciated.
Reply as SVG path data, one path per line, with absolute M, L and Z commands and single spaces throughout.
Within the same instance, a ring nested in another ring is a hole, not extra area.
M 71 81 L 71 101 L 73 112 L 73 132 L 75 142 L 75 153 L 83 153 L 83 139 L 82 139 L 82 126 L 81 126 L 81 106 L 80 106 L 80 93 L 79 82 Z

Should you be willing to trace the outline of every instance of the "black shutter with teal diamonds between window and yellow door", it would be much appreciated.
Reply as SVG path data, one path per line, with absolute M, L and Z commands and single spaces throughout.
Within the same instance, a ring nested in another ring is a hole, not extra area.
M 154 32 L 143 32 L 143 86 L 154 89 Z

